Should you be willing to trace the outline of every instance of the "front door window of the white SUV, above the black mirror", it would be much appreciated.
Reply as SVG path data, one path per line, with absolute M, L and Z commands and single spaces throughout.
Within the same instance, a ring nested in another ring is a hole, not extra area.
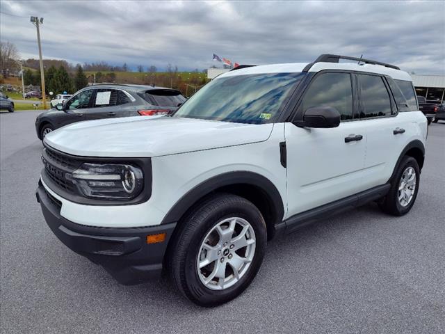
M 341 120 L 353 118 L 353 88 L 348 73 L 324 73 L 312 81 L 302 99 L 302 111 L 312 106 L 331 106 Z

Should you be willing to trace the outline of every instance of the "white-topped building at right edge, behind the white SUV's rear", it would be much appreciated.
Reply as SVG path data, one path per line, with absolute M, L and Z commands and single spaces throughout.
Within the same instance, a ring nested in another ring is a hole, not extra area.
M 444 103 L 445 74 L 411 74 L 417 96 L 425 97 L 427 102 Z

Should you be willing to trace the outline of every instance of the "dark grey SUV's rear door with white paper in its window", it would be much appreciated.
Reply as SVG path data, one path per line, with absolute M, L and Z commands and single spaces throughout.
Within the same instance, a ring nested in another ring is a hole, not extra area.
M 88 120 L 98 120 L 129 116 L 129 109 L 125 104 L 130 102 L 131 100 L 122 90 L 95 89 L 95 95 L 92 97 L 92 108 L 88 109 L 86 117 Z

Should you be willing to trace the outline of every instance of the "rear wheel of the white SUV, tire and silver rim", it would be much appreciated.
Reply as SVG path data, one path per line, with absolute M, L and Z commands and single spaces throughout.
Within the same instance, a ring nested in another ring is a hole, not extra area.
M 412 181 L 403 182 L 402 180 L 402 178 L 404 180 L 410 178 L 408 177 L 410 171 L 415 175 L 414 186 L 412 186 Z M 416 159 L 413 157 L 403 157 L 401 164 L 398 166 L 397 173 L 394 175 L 394 179 L 391 180 L 391 188 L 389 189 L 387 196 L 382 198 L 379 202 L 380 209 L 382 209 L 383 212 L 394 216 L 403 216 L 404 214 L 407 214 L 416 201 L 417 193 L 419 192 L 419 184 L 419 164 L 417 164 Z M 401 186 L 403 186 L 403 189 L 400 190 Z M 400 193 L 399 190 L 401 191 Z M 407 194 L 407 196 L 403 196 L 403 193 Z M 401 200 L 399 200 L 399 196 L 401 196 Z

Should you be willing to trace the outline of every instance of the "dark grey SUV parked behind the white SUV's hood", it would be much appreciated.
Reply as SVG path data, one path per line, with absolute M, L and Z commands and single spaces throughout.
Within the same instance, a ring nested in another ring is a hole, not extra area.
M 35 120 L 35 131 L 43 140 L 49 132 L 82 120 L 128 116 L 165 115 L 186 101 L 179 90 L 156 86 L 100 84 L 72 95 Z

